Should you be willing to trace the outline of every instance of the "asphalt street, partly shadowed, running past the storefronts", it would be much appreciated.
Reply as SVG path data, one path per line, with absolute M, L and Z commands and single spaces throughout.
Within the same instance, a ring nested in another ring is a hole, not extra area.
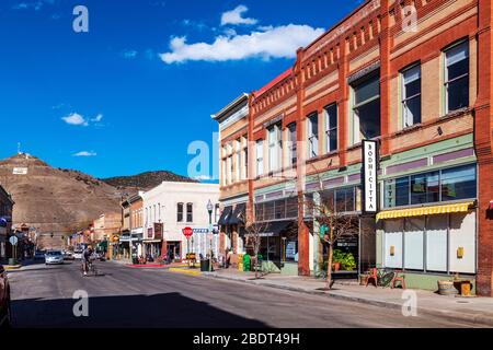
M 32 265 L 9 273 L 14 327 L 473 327 L 473 324 L 158 269 L 99 262 L 82 277 L 79 262 Z M 89 316 L 76 317 L 76 291 Z

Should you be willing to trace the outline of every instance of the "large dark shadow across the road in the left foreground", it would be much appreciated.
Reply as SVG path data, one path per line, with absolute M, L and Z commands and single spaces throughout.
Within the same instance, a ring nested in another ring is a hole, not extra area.
M 13 326 L 16 328 L 267 327 L 259 320 L 231 314 L 180 293 L 90 298 L 88 317 L 73 315 L 72 310 L 77 302 L 80 300 L 14 300 Z

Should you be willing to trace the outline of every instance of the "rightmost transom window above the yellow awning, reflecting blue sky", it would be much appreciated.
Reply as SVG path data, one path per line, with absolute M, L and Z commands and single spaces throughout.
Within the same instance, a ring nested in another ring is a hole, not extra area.
M 475 165 L 442 171 L 442 200 L 477 197 Z

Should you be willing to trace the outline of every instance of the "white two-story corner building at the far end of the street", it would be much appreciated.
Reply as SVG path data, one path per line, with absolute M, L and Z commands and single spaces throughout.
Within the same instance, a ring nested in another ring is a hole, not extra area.
M 144 192 L 142 200 L 146 255 L 156 258 L 171 250 L 174 260 L 185 259 L 187 253 L 206 256 L 211 242 L 218 256 L 219 240 L 210 232 L 207 205 L 210 201 L 214 225 L 219 215 L 219 185 L 163 182 Z M 183 234 L 185 228 L 194 230 L 190 240 Z

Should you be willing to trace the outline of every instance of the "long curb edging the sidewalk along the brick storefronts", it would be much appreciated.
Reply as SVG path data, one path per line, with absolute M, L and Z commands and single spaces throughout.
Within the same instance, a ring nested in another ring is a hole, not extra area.
M 249 283 L 249 284 L 263 285 L 263 287 L 274 288 L 274 289 L 279 289 L 279 290 L 301 292 L 301 293 L 312 294 L 312 295 L 325 295 L 325 296 L 330 296 L 330 298 L 337 299 L 337 300 L 352 301 L 352 302 L 372 305 L 372 306 L 380 306 L 380 307 L 387 307 L 387 308 L 393 308 L 393 310 L 402 310 L 402 304 L 394 303 L 394 302 L 386 302 L 386 301 L 381 301 L 381 300 L 367 299 L 367 298 L 354 296 L 354 295 L 344 295 L 344 294 L 337 294 L 334 292 L 309 290 L 309 289 L 302 289 L 302 288 L 296 288 L 296 287 L 289 287 L 289 285 L 283 285 L 283 284 L 275 284 L 275 283 L 268 283 L 268 282 L 262 283 L 262 282 L 257 282 L 254 280 L 236 279 L 236 278 L 231 278 L 231 277 L 218 276 L 218 275 L 213 275 L 213 273 L 204 273 L 204 276 L 207 278 L 223 279 L 223 280 L 243 282 L 243 283 Z M 470 322 L 470 323 L 473 323 L 473 324 L 477 324 L 480 326 L 493 327 L 493 317 L 492 316 L 471 315 L 471 314 L 465 314 L 465 313 L 447 311 L 447 310 L 424 308 L 424 307 L 417 307 L 417 314 L 419 315 L 440 316 L 440 317 L 445 317 L 447 319 L 463 320 L 463 322 Z

